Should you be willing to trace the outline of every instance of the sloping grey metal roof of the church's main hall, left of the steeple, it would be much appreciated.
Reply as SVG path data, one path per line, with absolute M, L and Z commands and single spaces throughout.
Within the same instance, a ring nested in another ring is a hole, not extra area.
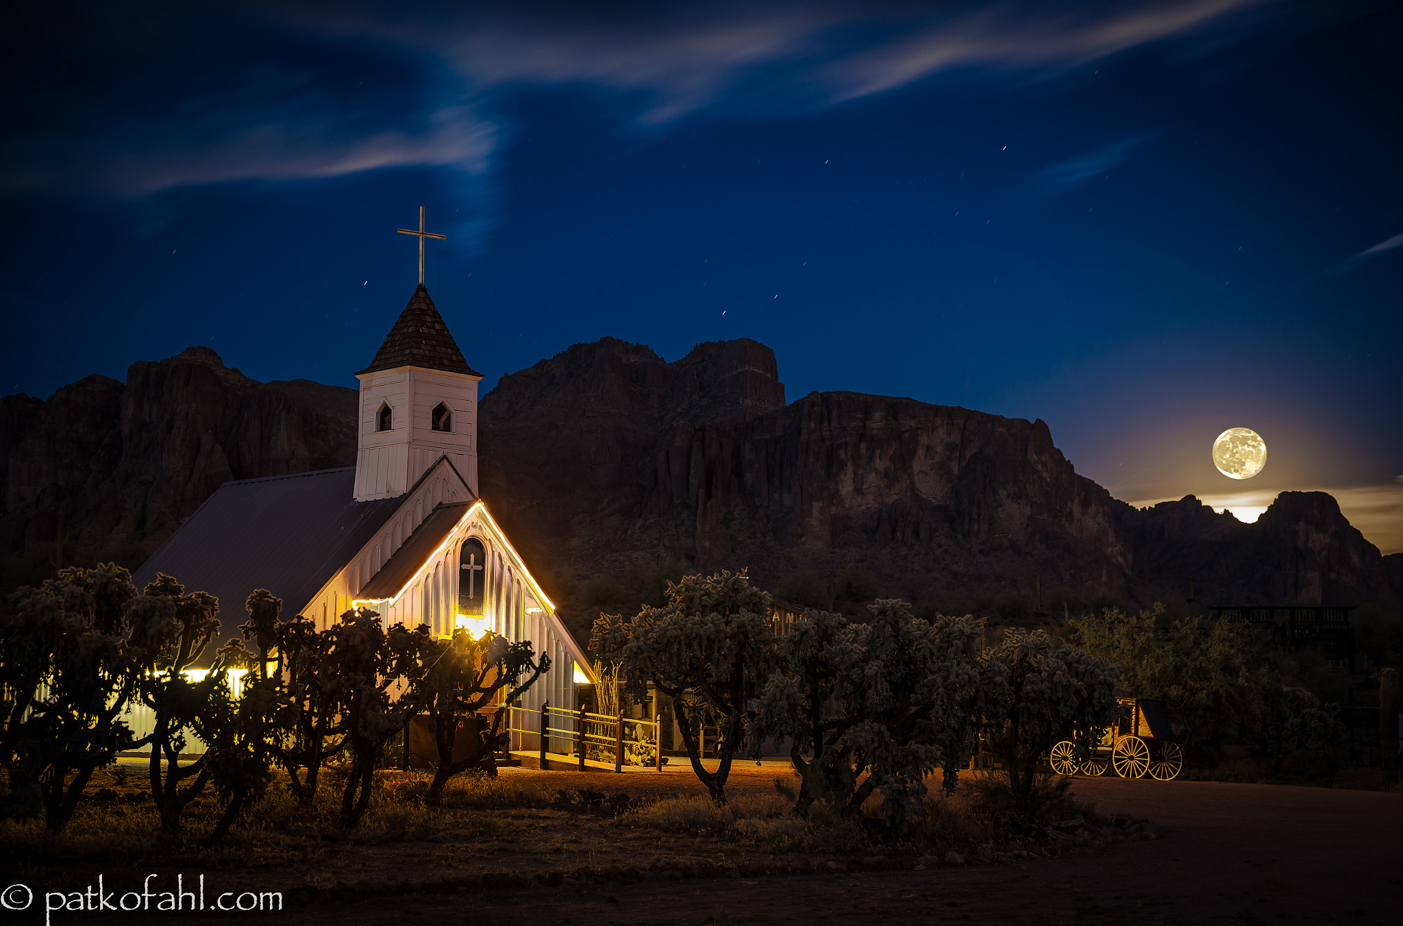
M 166 572 L 188 592 L 215 595 L 222 640 L 247 619 L 255 588 L 281 598 L 282 616 L 292 617 L 405 498 L 358 502 L 354 491 L 354 466 L 224 483 L 142 564 L 136 588 Z

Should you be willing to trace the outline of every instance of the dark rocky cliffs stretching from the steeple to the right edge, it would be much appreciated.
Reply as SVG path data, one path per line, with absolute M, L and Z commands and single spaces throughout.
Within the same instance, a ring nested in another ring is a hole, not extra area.
M 676 557 L 766 585 L 859 563 L 887 593 L 946 600 L 1399 600 L 1329 495 L 1285 492 L 1254 525 L 1193 497 L 1136 511 L 1078 476 L 1042 421 L 856 393 L 786 405 L 753 341 L 676 363 L 575 345 L 504 376 L 480 428 L 484 497 L 565 585 Z

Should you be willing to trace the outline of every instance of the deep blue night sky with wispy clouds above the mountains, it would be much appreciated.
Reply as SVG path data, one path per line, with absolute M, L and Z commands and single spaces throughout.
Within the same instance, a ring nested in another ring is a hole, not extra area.
M 194 344 L 354 387 L 424 205 L 484 390 L 749 337 L 791 400 L 1042 418 L 1118 498 L 1324 488 L 1403 550 L 1400 4 L 34 6 L 0 391 Z

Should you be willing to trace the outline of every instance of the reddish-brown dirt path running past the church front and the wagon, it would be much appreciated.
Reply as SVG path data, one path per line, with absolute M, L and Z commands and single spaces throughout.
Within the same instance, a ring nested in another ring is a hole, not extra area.
M 738 767 L 737 793 L 781 769 Z M 512 770 L 602 791 L 696 793 L 696 779 Z M 1379 923 L 1403 911 L 1403 796 L 1216 781 L 1082 779 L 1104 811 L 1148 817 L 1156 842 L 981 868 L 650 881 L 633 887 L 384 898 L 293 911 L 289 922 L 412 923 L 455 912 L 521 925 L 696 923 Z M 610 901 L 610 898 L 615 898 Z M 340 909 L 338 909 L 340 908 Z

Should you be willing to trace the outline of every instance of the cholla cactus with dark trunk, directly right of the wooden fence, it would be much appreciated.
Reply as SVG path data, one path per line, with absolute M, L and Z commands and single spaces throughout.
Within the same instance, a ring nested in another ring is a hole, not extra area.
M 748 702 L 773 645 L 770 596 L 744 572 L 686 575 L 666 595 L 665 606 L 630 619 L 600 615 L 591 648 L 619 665 L 634 697 L 647 694 L 648 682 L 672 697 L 692 770 L 713 800 L 725 801 L 731 760 L 749 732 Z M 716 772 L 702 766 L 697 737 L 711 723 L 721 732 Z

